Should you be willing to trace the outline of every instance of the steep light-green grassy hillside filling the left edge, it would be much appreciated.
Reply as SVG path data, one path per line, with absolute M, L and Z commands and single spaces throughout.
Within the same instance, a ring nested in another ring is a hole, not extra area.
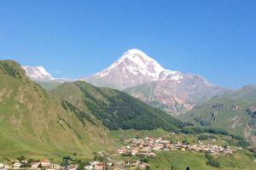
M 0 160 L 91 156 L 108 146 L 108 130 L 100 122 L 32 82 L 15 61 L 0 61 L 0 80 Z

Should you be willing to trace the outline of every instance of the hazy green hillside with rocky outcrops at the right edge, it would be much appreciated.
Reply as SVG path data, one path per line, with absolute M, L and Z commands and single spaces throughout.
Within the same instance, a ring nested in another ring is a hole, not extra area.
M 181 116 L 181 119 L 206 127 L 221 127 L 256 144 L 255 107 L 256 86 L 247 86 L 232 94 L 195 106 L 193 110 Z

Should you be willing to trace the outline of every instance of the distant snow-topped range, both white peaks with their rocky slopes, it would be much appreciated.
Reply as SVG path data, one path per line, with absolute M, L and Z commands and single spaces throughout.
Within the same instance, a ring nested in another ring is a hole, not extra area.
M 40 66 L 23 66 L 28 77 L 41 82 L 45 87 L 56 84 L 45 82 L 67 82 L 56 79 Z M 191 110 L 196 104 L 230 90 L 213 85 L 201 76 L 181 71 L 164 69 L 157 61 L 138 49 L 130 49 L 107 69 L 79 78 L 98 87 L 124 90 L 145 103 L 178 116 Z M 43 82 L 43 83 L 42 83 Z

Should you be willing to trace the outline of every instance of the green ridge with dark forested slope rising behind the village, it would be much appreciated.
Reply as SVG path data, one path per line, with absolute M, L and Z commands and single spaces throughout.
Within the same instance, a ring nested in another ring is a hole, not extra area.
M 183 123 L 128 94 L 111 88 L 96 88 L 87 82 L 65 82 L 53 91 L 81 111 L 88 111 L 112 130 L 176 131 Z

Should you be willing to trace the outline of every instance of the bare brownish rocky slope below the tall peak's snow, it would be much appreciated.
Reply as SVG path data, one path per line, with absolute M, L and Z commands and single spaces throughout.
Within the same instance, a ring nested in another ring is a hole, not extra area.
M 148 82 L 124 90 L 125 93 L 172 116 L 182 115 L 196 104 L 228 91 L 210 84 L 200 76 L 186 74 L 183 74 L 183 80 L 180 82 L 166 78 L 163 81 Z

